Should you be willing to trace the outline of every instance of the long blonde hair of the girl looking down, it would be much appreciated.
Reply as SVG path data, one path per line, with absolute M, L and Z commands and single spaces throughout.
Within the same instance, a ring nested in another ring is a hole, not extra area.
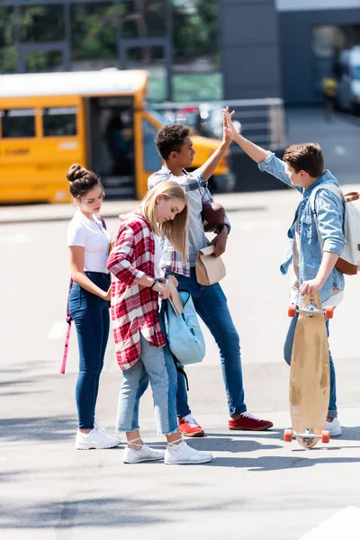
M 161 224 L 157 223 L 158 195 L 164 195 L 166 200 L 180 199 L 180 201 L 184 201 L 184 210 L 177 213 L 174 220 L 165 221 L 165 223 Z M 157 184 L 145 195 L 141 204 L 141 210 L 154 234 L 168 239 L 181 256 L 182 264 L 185 266 L 188 258 L 187 228 L 189 214 L 184 188 L 174 180 L 167 180 L 166 182 Z

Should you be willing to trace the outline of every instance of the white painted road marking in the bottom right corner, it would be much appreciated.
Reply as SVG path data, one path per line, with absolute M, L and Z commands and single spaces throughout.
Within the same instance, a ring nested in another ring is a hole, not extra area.
M 332 518 L 315 527 L 309 534 L 302 536 L 299 540 L 358 540 L 358 524 L 360 521 L 360 509 L 347 507 L 335 514 Z

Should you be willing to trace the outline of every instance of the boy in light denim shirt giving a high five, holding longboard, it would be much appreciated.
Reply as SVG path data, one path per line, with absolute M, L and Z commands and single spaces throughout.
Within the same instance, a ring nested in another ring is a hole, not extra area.
M 232 124 L 229 113 L 224 111 L 228 122 L 228 135 L 254 159 L 261 171 L 284 182 L 302 193 L 292 226 L 288 230 L 289 247 L 280 270 L 283 275 L 290 270 L 291 299 L 294 304 L 302 304 L 302 295 L 319 291 L 323 305 L 337 306 L 344 296 L 344 275 L 335 268 L 346 239 L 343 233 L 344 204 L 335 193 L 326 189 L 327 185 L 337 186 L 337 179 L 328 170 L 323 170 L 324 157 L 319 144 L 293 144 L 284 152 L 284 160 L 274 153 L 258 147 L 245 139 Z M 315 217 L 311 211 L 310 197 L 313 189 L 320 189 L 315 197 L 315 211 L 323 240 L 320 247 Z M 284 344 L 284 358 L 290 365 L 293 337 L 298 316 L 293 318 Z M 329 320 L 326 322 L 329 336 Z M 325 429 L 332 437 L 341 435 L 338 421 L 336 377 L 330 353 L 330 400 Z

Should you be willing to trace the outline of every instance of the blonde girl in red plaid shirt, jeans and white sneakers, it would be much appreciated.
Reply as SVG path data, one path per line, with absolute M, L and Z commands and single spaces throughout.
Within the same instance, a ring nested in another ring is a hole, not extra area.
M 117 430 L 125 431 L 124 463 L 165 459 L 166 464 L 202 464 L 209 452 L 198 452 L 181 438 L 176 417 L 176 369 L 166 343 L 158 296 L 169 288 L 160 278 L 162 248 L 167 238 L 187 258 L 187 205 L 184 188 L 174 181 L 158 184 L 145 196 L 139 211 L 120 217 L 121 226 L 108 259 L 112 279 L 112 327 L 122 383 Z M 174 276 L 170 279 L 177 285 Z M 150 383 L 158 435 L 165 435 L 166 451 L 146 446 L 139 434 L 139 400 Z

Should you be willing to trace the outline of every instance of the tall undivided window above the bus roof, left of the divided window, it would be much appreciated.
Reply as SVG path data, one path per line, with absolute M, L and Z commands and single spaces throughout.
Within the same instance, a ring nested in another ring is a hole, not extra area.
M 72 69 L 117 66 L 117 16 L 115 4 L 71 6 Z

